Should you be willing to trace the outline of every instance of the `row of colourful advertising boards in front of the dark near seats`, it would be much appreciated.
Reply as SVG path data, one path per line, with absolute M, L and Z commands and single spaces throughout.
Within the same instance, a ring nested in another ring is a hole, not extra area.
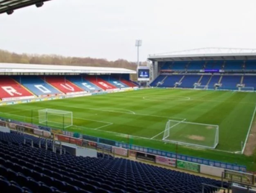
M 40 130 L 35 125 L 31 125 L 31 124 L 26 125 L 24 123 L 19 123 L 19 122 L 13 123 L 13 122 L 0 121 L 0 126 L 8 127 L 10 129 L 16 129 L 16 130 L 23 129 L 23 131 L 27 133 L 40 135 L 46 138 L 54 138 L 55 140 L 59 140 L 61 142 L 76 144 L 77 146 L 84 146 L 92 149 L 98 149 L 98 150 L 102 149 L 103 151 L 114 153 L 115 155 L 131 157 L 137 160 L 153 162 L 162 166 L 174 167 L 174 168 L 182 169 L 185 171 L 193 171 L 195 173 L 202 173 L 206 175 L 222 177 L 222 173 L 225 171 L 228 171 L 228 174 L 227 176 L 225 176 L 225 179 L 229 179 L 230 174 L 232 174 L 233 177 L 235 175 L 237 176 L 243 175 L 244 181 L 249 179 L 251 182 L 255 182 L 254 175 L 252 175 L 251 173 L 242 172 L 242 171 L 246 171 L 245 166 L 238 166 L 238 165 L 227 164 L 222 162 L 218 164 L 218 166 L 220 167 L 211 166 L 209 165 L 209 163 L 211 162 L 216 163 L 216 162 L 211 160 L 192 158 L 186 155 L 179 155 L 179 154 L 175 154 L 175 158 L 171 158 L 171 156 L 173 156 L 174 154 L 170 152 L 163 153 L 163 151 L 159 151 L 159 150 L 153 150 L 153 149 L 148 149 L 140 146 L 122 144 L 112 140 L 96 138 L 92 136 L 76 135 L 77 133 L 61 131 L 61 130 L 52 130 L 52 132 L 43 131 L 43 130 Z M 128 147 L 132 147 L 133 149 L 132 148 L 129 149 Z M 165 155 L 168 155 L 169 157 L 166 157 Z M 193 162 L 195 161 L 194 159 L 201 160 L 201 161 L 200 163 L 198 162 L 196 163 L 196 162 Z M 191 162 L 187 160 L 191 160 Z M 207 162 L 204 162 L 204 161 L 207 161 Z

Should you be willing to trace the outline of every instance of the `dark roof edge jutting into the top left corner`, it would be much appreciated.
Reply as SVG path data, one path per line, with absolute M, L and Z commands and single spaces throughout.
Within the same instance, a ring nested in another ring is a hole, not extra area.
M 0 13 L 11 14 L 15 9 L 34 4 L 36 7 L 41 7 L 45 1 L 49 0 L 0 0 Z

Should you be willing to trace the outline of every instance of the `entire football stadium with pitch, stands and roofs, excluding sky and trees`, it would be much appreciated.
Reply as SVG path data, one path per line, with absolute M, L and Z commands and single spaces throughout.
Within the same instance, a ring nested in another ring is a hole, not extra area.
M 254 89 L 254 49 L 150 54 L 137 70 L 0 63 L 0 193 L 253 193 Z

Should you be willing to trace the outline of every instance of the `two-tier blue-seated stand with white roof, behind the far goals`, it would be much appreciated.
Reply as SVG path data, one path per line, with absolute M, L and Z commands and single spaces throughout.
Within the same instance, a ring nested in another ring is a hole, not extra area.
M 256 50 L 204 48 L 152 54 L 152 87 L 254 91 Z

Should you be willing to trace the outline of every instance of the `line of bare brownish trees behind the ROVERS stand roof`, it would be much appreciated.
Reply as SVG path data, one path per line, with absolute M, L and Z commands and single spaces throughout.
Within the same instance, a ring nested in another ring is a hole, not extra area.
M 98 58 L 64 57 L 61 55 L 38 55 L 38 54 L 17 54 L 0 50 L 0 62 L 20 64 L 55 64 L 71 66 L 92 66 L 92 67 L 115 67 L 136 70 L 136 63 L 118 59 L 108 61 Z M 146 62 L 143 62 L 146 64 Z

